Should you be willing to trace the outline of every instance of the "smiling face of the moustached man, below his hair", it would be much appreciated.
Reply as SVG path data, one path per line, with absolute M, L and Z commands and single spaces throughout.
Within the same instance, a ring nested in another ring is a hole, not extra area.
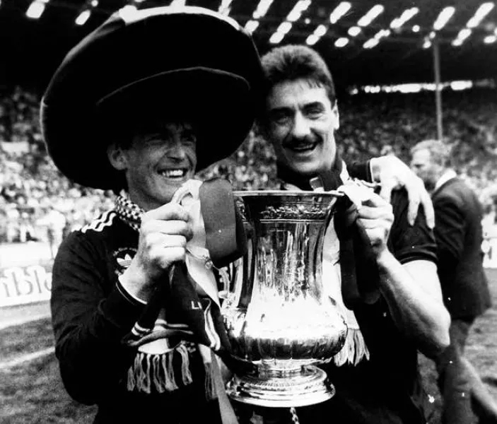
M 324 87 L 306 79 L 278 83 L 267 97 L 266 112 L 266 133 L 279 163 L 308 176 L 331 169 L 339 113 Z

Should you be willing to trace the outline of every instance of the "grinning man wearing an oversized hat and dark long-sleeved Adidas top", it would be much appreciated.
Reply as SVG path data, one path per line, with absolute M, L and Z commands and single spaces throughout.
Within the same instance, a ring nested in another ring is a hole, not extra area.
M 95 423 L 235 422 L 212 353 L 223 334 L 211 269 L 233 237 L 223 228 L 223 252 L 209 247 L 201 200 L 215 215 L 230 204 L 193 177 L 244 141 L 262 80 L 234 20 L 164 7 L 116 13 L 49 83 L 41 119 L 54 163 L 118 194 L 66 238 L 53 269 L 62 379 L 98 405 Z

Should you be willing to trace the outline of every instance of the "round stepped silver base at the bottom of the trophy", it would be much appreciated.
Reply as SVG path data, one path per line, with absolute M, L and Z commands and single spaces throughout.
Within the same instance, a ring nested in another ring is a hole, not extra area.
M 335 394 L 326 372 L 315 365 L 304 365 L 300 373 L 288 377 L 235 375 L 226 387 L 234 401 L 243 404 L 291 408 L 320 404 Z

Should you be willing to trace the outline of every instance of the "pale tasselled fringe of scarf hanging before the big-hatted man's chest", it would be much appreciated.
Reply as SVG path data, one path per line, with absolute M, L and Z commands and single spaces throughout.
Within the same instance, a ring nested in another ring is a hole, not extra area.
M 134 363 L 129 367 L 127 375 L 128 391 L 141 391 L 150 394 L 152 391 L 163 393 L 179 388 L 176 382 L 173 359 L 179 353 L 181 360 L 180 376 L 185 386 L 192 382 L 189 370 L 189 355 L 185 345 L 180 344 L 174 351 L 158 355 L 139 352 L 134 358 Z

